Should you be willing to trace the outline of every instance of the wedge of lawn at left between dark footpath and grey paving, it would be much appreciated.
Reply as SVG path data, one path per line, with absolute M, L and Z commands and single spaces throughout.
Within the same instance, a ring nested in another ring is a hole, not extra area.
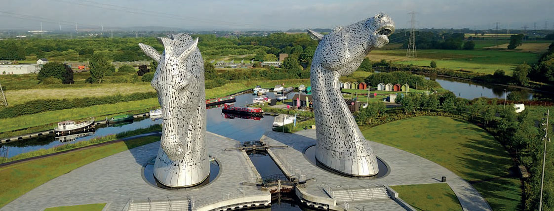
M 73 169 L 156 141 L 160 141 L 160 137 L 146 136 L 0 167 L 0 184 L 3 189 L 0 192 L 0 207 Z

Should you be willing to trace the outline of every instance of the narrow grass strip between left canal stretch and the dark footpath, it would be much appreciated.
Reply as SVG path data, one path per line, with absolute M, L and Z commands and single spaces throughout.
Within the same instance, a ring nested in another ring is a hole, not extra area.
M 119 139 L 119 138 L 126 138 L 126 137 L 135 136 L 135 135 L 140 135 L 140 134 L 143 134 L 143 133 L 148 133 L 148 132 L 153 132 L 153 131 L 161 131 L 161 130 L 162 130 L 161 125 L 152 125 L 150 127 L 139 128 L 137 130 L 121 132 L 121 133 L 117 133 L 115 135 L 107 135 L 107 136 L 103 136 L 103 137 L 93 138 L 93 139 L 88 140 L 88 141 L 79 141 L 79 142 L 75 142 L 75 143 L 68 143 L 66 145 L 59 145 L 59 146 L 48 148 L 48 149 L 40 149 L 40 150 L 31 151 L 31 152 L 20 153 L 19 155 L 13 156 L 11 158 L 0 157 L 0 163 L 6 163 L 6 162 L 17 161 L 17 160 L 25 159 L 25 158 L 29 158 L 29 157 L 37 157 L 37 156 L 48 155 L 48 154 L 52 154 L 52 153 L 56 153 L 56 152 L 73 150 L 75 148 L 91 146 L 91 145 L 95 145 L 97 143 L 104 143 L 104 142 L 113 141 L 113 140 L 116 140 L 116 139 Z

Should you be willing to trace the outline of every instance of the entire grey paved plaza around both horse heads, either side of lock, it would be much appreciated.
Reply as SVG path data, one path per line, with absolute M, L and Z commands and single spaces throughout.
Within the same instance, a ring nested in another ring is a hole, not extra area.
M 258 187 L 245 186 L 242 182 L 255 182 L 255 173 L 249 167 L 248 158 L 240 151 L 224 151 L 225 148 L 237 147 L 238 141 L 207 133 L 208 153 L 220 164 L 219 176 L 207 186 L 182 191 L 168 191 L 146 183 L 141 169 L 150 159 L 156 156 L 160 142 L 133 148 L 117 153 L 98 161 L 77 168 L 63 176 L 52 179 L 39 186 L 1 210 L 43 210 L 78 204 L 107 203 L 106 210 L 122 210 L 129 200 L 194 200 L 218 201 L 228 194 L 242 193 L 245 196 L 267 195 Z M 442 176 L 456 193 L 464 210 L 491 210 L 483 197 L 468 182 L 448 169 L 428 159 L 413 155 L 379 143 L 371 142 L 377 157 L 388 164 L 391 171 L 378 179 L 357 179 L 338 176 L 324 171 L 310 163 L 302 153 L 307 147 L 315 145 L 315 130 L 297 133 L 268 132 L 261 138 L 268 145 L 288 145 L 287 148 L 271 148 L 284 168 L 289 172 L 299 173 L 305 178 L 315 178 L 306 184 L 309 194 L 319 197 L 329 196 L 324 187 L 360 188 L 376 187 L 385 184 L 396 186 L 402 184 L 439 183 Z M 402 195 L 399 195 L 402 198 Z M 342 204 L 337 204 L 342 207 Z M 379 199 L 365 202 L 349 203 L 350 209 L 401 210 L 392 199 Z

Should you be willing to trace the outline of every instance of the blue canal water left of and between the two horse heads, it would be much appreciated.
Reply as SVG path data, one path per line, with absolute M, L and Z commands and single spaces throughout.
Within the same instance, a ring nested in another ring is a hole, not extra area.
M 290 92 L 286 96 L 291 98 L 294 94 L 294 92 Z M 280 95 L 274 94 L 273 92 L 268 92 L 267 96 L 270 98 L 275 98 Z M 235 99 L 237 101 L 234 102 L 234 105 L 245 106 L 252 103 L 252 99 L 254 99 L 255 97 L 258 96 L 252 95 L 252 93 L 245 93 L 235 96 Z M 207 131 L 225 137 L 233 138 L 234 140 L 240 142 L 245 142 L 258 141 L 261 136 L 266 131 L 270 131 L 273 126 L 273 116 L 263 116 L 260 118 L 252 119 L 248 116 L 225 115 L 221 112 L 221 109 L 221 107 L 211 107 L 206 111 Z M 132 131 L 160 123 L 162 123 L 161 119 L 152 120 L 150 118 L 143 118 L 135 119 L 132 122 L 126 122 L 125 125 L 99 125 L 96 126 L 96 129 L 94 131 L 86 134 L 81 134 L 86 136 L 77 137 L 74 138 L 75 140 L 69 140 L 67 142 L 61 142 L 57 140 L 53 135 L 40 136 L 30 138 L 28 140 L 13 141 L 0 145 L 2 146 L 2 149 L 0 151 L 2 152 L 2 155 L 0 156 L 10 158 L 19 155 L 20 153 L 35 151 L 39 149 L 48 149 L 59 145 L 65 145 L 67 143 L 91 140 L 92 138 L 102 137 L 110 134 L 117 134 L 125 131 Z

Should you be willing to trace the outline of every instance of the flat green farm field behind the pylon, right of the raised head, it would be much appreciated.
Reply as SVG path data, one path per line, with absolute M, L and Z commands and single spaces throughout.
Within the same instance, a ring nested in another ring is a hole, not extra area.
M 375 50 L 370 53 L 372 61 L 392 60 L 393 63 L 429 66 L 434 60 L 438 68 L 469 70 L 475 73 L 493 74 L 502 69 L 511 75 L 521 63 L 536 63 L 540 54 L 507 52 L 499 50 L 418 50 L 417 58 L 407 58 L 406 50 Z

